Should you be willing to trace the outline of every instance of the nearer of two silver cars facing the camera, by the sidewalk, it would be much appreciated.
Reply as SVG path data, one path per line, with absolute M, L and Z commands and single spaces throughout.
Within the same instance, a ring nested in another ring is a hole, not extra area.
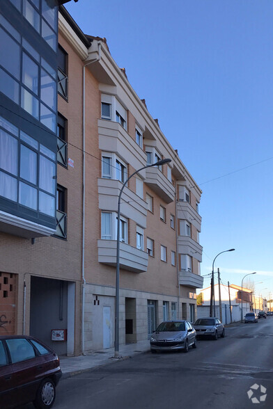
M 196 332 L 192 325 L 185 320 L 164 321 L 150 337 L 150 351 L 173 351 L 183 349 L 189 351 L 189 346 L 196 348 Z

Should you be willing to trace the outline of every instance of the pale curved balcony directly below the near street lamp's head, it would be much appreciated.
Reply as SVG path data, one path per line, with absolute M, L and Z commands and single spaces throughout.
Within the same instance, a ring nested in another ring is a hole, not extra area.
M 150 189 L 157 193 L 165 203 L 173 202 L 175 188 L 157 167 L 146 169 L 145 183 L 150 186 Z

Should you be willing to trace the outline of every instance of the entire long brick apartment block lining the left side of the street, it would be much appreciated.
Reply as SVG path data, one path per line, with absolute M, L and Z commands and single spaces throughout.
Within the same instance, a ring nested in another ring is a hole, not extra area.
M 3 33 L 23 60 L 17 79 L 0 62 L 0 330 L 77 355 L 114 345 L 118 194 L 135 170 L 160 159 L 171 162 L 139 171 L 121 197 L 120 344 L 147 339 L 166 319 L 194 321 L 203 286 L 201 189 L 106 40 L 84 35 L 61 6 L 52 48 L 56 25 L 46 40 L 33 26 L 37 13 L 40 27 L 47 24 L 44 3 L 10 0 L 1 10 Z M 49 98 L 56 90 L 58 109 Z M 17 158 L 10 167 L 15 152 L 27 166 Z

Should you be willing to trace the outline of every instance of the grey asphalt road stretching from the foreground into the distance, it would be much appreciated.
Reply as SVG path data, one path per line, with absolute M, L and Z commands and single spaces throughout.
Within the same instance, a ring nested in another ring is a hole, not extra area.
M 252 390 L 251 398 L 257 403 L 247 395 L 255 384 L 258 390 Z M 189 353 L 143 353 L 61 380 L 54 403 L 55 409 L 257 406 L 273 407 L 271 316 L 226 328 L 224 339 L 200 340 Z

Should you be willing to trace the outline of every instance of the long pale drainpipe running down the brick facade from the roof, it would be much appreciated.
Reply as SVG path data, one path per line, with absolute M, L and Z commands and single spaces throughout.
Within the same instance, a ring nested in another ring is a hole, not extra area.
M 81 243 L 81 281 L 82 281 L 82 303 L 81 303 L 81 354 L 85 355 L 84 352 L 84 303 L 85 303 L 85 287 L 86 287 L 86 279 L 85 279 L 85 270 L 84 270 L 84 262 L 85 262 L 85 68 L 86 65 L 90 65 L 95 63 L 96 61 L 100 61 L 100 50 L 101 50 L 101 43 L 98 42 L 98 58 L 95 58 L 92 61 L 89 61 L 83 67 L 83 76 L 82 76 L 82 243 Z

